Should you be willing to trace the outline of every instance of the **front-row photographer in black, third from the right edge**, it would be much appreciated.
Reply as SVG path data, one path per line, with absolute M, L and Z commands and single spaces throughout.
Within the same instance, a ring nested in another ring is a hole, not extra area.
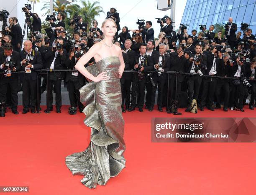
M 231 61 L 230 55 L 225 53 L 223 55 L 224 66 L 220 66 L 216 76 L 220 76 L 220 77 L 228 76 L 228 67 L 229 67 L 230 61 Z M 229 80 L 218 79 L 215 92 L 216 92 L 216 107 L 215 107 L 215 109 L 220 108 L 221 96 L 222 96 L 222 93 L 224 93 L 223 110 L 225 112 L 228 112 L 228 103 L 229 103 L 229 97 L 230 97 Z

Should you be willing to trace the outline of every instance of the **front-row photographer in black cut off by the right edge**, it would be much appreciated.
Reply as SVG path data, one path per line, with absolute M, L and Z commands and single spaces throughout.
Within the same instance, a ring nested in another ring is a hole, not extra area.
M 249 108 L 251 110 L 254 110 L 254 101 L 255 101 L 255 97 L 256 97 L 256 82 L 253 81 L 256 79 L 256 57 L 254 57 L 251 60 L 251 65 L 246 68 L 246 78 L 248 78 L 248 82 L 252 85 L 251 87 L 251 100 L 249 103 Z

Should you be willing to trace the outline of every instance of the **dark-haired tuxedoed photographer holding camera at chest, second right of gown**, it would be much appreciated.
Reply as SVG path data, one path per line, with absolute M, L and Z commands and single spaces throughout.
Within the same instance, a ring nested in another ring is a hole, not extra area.
M 129 112 L 135 110 L 135 102 L 138 93 L 138 109 L 143 112 L 143 105 L 145 99 L 145 88 L 146 88 L 146 72 L 153 70 L 153 65 L 151 64 L 151 56 L 146 55 L 146 45 L 142 43 L 139 47 L 140 54 L 136 57 L 134 61 L 134 70 L 139 72 L 133 73 L 133 85 L 132 85 L 132 95 L 131 95 L 131 108 Z

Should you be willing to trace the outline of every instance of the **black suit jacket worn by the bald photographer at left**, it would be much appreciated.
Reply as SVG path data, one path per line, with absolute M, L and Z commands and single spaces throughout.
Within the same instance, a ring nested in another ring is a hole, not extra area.
M 33 53 L 34 53 L 34 55 L 33 55 Z M 25 74 L 31 75 L 31 79 L 36 80 L 38 72 L 34 72 L 34 70 L 40 70 L 43 67 L 42 57 L 41 57 L 41 53 L 39 51 L 32 49 L 31 56 L 34 57 L 34 59 L 30 62 L 33 65 L 33 68 L 31 68 L 31 73 L 20 73 L 21 81 L 23 81 Z M 27 59 L 26 52 L 25 52 L 25 50 L 22 50 L 22 51 L 20 51 L 20 61 L 22 61 L 24 59 L 25 60 Z M 21 70 L 25 71 L 25 67 L 22 66 Z

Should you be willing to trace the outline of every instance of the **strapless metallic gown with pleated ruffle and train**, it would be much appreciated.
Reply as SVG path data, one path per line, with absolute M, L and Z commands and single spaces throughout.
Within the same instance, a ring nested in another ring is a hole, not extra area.
M 91 81 L 80 89 L 80 101 L 85 106 L 84 124 L 91 127 L 91 142 L 84 151 L 67 156 L 66 165 L 73 175 L 84 175 L 81 182 L 88 188 L 105 185 L 125 168 L 119 66 L 116 56 L 88 66 L 92 75 L 107 72 L 110 79 Z

